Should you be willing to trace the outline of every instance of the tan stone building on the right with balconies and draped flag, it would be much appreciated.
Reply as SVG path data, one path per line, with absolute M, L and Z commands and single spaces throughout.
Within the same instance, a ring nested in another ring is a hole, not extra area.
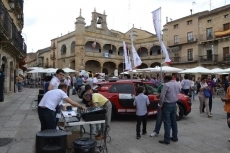
M 163 40 L 172 66 L 228 68 L 230 63 L 230 5 L 167 22 Z

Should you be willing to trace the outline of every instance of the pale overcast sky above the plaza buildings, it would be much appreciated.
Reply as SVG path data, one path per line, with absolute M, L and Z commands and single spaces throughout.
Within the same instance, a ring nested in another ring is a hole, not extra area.
M 195 3 L 194 3 L 195 2 Z M 229 4 L 230 0 L 212 0 L 211 8 Z M 94 8 L 107 15 L 109 29 L 127 32 L 134 24 L 155 33 L 151 12 L 161 7 L 162 25 L 166 17 L 175 20 L 210 9 L 210 0 L 24 0 L 23 37 L 27 52 L 49 47 L 50 40 L 74 31 L 80 8 L 86 25 L 90 25 Z

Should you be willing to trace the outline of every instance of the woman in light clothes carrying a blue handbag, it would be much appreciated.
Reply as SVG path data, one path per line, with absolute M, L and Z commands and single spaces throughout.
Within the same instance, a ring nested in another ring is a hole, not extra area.
M 197 93 L 200 101 L 200 115 L 203 115 L 202 109 L 203 109 L 203 104 L 205 104 L 208 117 L 212 117 L 209 110 L 210 92 L 206 80 L 207 79 L 205 77 L 202 77 L 201 82 L 197 85 Z

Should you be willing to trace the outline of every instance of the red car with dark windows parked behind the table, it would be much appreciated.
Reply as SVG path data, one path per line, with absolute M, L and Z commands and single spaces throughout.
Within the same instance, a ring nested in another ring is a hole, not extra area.
M 112 80 L 98 83 L 97 92 L 108 98 L 113 105 L 113 115 L 135 114 L 136 109 L 133 106 L 136 89 L 138 86 L 145 87 L 145 94 L 149 97 L 148 115 L 157 114 L 159 99 L 157 98 L 157 86 L 151 82 L 141 80 Z M 178 94 L 178 114 L 177 119 L 191 112 L 191 99 L 184 94 Z

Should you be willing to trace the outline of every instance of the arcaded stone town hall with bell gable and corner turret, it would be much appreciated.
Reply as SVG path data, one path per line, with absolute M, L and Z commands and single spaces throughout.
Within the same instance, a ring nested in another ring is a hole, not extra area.
M 143 62 L 140 68 L 160 65 L 160 47 L 154 34 L 134 27 L 126 33 L 109 30 L 106 17 L 105 12 L 100 14 L 94 10 L 91 25 L 86 26 L 80 13 L 76 18 L 75 31 L 51 40 L 52 67 L 70 67 L 77 71 L 85 69 L 109 75 L 113 75 L 115 69 L 122 72 L 123 41 L 131 49 L 131 32 L 135 48 Z

